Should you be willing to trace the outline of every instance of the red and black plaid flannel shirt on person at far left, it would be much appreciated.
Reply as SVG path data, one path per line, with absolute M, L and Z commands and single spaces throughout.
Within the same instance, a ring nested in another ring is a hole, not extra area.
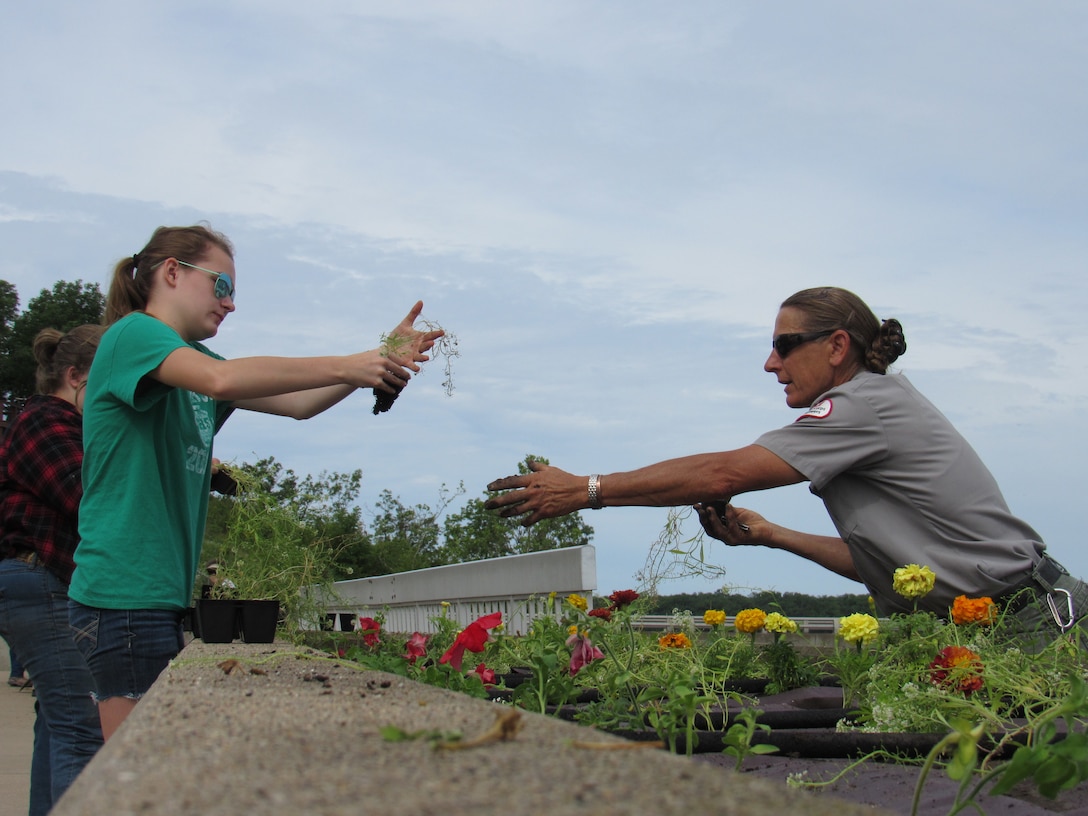
M 60 397 L 36 395 L 0 442 L 0 557 L 33 551 L 65 583 L 79 542 L 83 418 Z

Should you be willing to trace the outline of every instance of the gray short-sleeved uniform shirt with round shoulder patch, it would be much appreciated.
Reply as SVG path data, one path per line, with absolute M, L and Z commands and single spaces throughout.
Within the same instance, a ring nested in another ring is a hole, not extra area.
M 990 471 L 902 374 L 863 371 L 755 444 L 800 471 L 824 500 L 881 614 L 910 611 L 892 573 L 937 573 L 918 607 L 947 615 L 956 595 L 1022 583 L 1044 545 L 1009 510 Z

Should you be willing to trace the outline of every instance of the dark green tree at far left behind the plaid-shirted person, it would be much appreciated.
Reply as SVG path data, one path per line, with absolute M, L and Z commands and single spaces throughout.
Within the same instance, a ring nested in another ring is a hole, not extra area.
M 101 323 L 106 298 L 97 283 L 58 281 L 52 289 L 42 289 L 22 314 L 14 314 L 18 294 L 7 281 L 0 281 L 0 399 L 15 401 L 34 394 L 37 362 L 34 338 L 42 329 L 66 332 L 84 323 Z

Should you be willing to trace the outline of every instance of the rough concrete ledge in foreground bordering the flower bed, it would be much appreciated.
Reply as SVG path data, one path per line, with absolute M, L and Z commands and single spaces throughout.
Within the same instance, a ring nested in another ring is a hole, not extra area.
M 380 733 L 470 739 L 510 710 L 289 644 L 194 641 L 52 813 L 873 814 L 524 712 L 512 740 L 467 750 Z

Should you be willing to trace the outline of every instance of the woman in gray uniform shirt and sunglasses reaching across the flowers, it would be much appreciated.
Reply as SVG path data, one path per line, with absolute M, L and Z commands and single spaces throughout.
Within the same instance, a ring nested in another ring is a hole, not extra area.
M 804 412 L 737 450 L 698 454 L 622 473 L 578 477 L 534 465 L 487 485 L 486 506 L 522 523 L 586 507 L 693 504 L 704 529 L 730 545 L 784 549 L 861 581 L 882 614 L 913 605 L 892 573 L 937 574 L 919 602 L 947 615 L 953 598 L 989 596 L 1022 626 L 1064 631 L 1088 614 L 1088 584 L 1046 554 L 1012 515 L 990 471 L 960 433 L 888 366 L 906 350 L 898 320 L 877 320 L 851 292 L 819 287 L 781 306 L 764 369 Z M 807 481 L 839 536 L 813 535 L 729 505 L 730 497 Z

